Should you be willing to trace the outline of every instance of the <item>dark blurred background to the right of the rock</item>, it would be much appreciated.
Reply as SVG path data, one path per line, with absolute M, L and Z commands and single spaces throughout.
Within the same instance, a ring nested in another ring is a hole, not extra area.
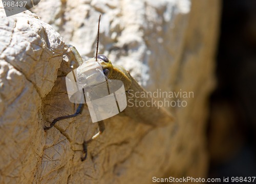
M 256 174 L 255 10 L 253 0 L 222 1 L 218 84 L 208 126 L 209 177 Z

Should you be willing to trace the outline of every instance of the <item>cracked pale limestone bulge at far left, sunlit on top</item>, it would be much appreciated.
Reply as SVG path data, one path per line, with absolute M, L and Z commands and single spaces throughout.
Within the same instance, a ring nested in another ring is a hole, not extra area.
M 44 168 L 41 98 L 53 88 L 64 44 L 30 12 L 0 8 L 0 183 L 29 183 Z

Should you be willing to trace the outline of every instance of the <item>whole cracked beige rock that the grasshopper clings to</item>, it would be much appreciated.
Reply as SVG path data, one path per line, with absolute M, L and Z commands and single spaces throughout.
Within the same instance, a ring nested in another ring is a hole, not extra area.
M 62 38 L 29 12 L 6 18 L 0 9 L 1 183 L 151 183 L 152 177 L 206 177 L 207 97 L 214 87 L 219 1 L 42 1 L 32 11 L 93 57 L 99 52 L 130 70 L 147 91 L 177 96 L 186 107 L 165 107 L 174 123 L 153 127 L 118 115 L 80 161 L 82 142 L 96 133 L 88 109 L 74 113 L 65 76 L 74 58 Z M 63 59 L 63 60 L 62 60 Z M 61 62 L 62 60 L 62 62 Z M 57 77 L 58 76 L 58 77 Z M 158 100 L 164 98 L 156 96 Z

